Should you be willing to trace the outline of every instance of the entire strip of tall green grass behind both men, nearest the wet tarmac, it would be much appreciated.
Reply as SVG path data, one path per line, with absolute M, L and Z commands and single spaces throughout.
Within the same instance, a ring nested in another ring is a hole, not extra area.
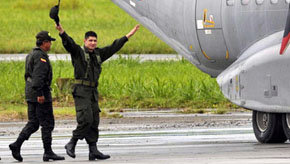
M 73 78 L 70 62 L 52 62 L 55 106 L 73 106 L 70 89 L 60 90 L 58 78 Z M 0 103 L 24 104 L 24 62 L 0 62 Z M 69 87 L 68 87 L 69 88 Z M 139 62 L 112 60 L 103 64 L 99 84 L 101 108 L 232 107 L 216 80 L 188 61 Z

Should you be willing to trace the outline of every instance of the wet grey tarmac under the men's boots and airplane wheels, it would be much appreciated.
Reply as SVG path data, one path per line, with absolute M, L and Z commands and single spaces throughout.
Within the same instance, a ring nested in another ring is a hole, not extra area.
M 111 155 L 105 161 L 88 161 L 88 146 L 79 141 L 75 159 L 64 145 L 75 120 L 56 122 L 53 149 L 65 161 L 54 163 L 108 164 L 265 164 L 290 163 L 290 144 L 259 144 L 251 127 L 251 113 L 180 114 L 169 111 L 125 111 L 123 118 L 102 119 L 99 149 Z M 0 163 L 15 163 L 8 149 L 25 122 L 1 123 Z M 23 163 L 42 162 L 40 131 L 22 148 Z

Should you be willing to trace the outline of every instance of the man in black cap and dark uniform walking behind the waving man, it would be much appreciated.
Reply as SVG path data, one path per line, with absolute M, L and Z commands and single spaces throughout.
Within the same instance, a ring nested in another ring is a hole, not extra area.
M 43 161 L 64 160 L 51 149 L 51 133 L 54 129 L 54 116 L 50 85 L 52 68 L 47 55 L 51 41 L 55 41 L 47 31 L 36 35 L 36 47 L 27 55 L 25 62 L 25 97 L 28 104 L 28 122 L 22 129 L 17 140 L 9 145 L 12 156 L 22 162 L 21 145 L 31 134 L 41 128 L 44 147 Z

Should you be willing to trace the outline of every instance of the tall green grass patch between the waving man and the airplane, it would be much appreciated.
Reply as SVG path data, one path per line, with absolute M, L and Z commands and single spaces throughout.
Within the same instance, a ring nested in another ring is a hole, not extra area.
M 120 59 L 105 65 L 100 81 L 105 107 L 203 108 L 226 101 L 215 79 L 185 60 Z

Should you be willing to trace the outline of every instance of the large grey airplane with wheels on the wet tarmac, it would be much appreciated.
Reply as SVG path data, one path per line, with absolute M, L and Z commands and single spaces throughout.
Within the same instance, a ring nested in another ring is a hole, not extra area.
M 290 139 L 290 0 L 111 1 L 252 110 L 260 143 Z

